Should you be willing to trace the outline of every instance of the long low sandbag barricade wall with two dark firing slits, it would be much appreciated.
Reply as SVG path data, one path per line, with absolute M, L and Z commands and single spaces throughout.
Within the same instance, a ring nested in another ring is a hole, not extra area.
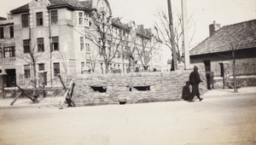
M 85 75 L 75 78 L 73 91 L 76 106 L 106 105 L 142 102 L 169 102 L 181 100 L 183 86 L 191 71 L 170 73 L 128 73 Z M 200 92 L 207 91 L 205 72 L 200 72 L 203 83 Z M 91 86 L 102 87 L 106 92 L 95 91 Z M 136 86 L 150 86 L 140 91 Z M 130 88 L 131 87 L 131 88 Z

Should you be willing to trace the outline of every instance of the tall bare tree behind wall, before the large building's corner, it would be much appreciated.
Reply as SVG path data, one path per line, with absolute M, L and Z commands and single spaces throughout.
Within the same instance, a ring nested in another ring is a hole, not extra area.
M 99 49 L 105 64 L 105 73 L 109 72 L 110 62 L 122 45 L 125 31 L 113 31 L 112 15 L 104 10 L 95 10 L 90 14 L 93 20 L 92 30 L 89 33 L 90 41 Z

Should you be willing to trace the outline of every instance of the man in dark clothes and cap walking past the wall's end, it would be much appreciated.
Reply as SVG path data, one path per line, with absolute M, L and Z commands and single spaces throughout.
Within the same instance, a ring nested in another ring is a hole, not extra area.
M 189 102 L 193 102 L 194 96 L 197 96 L 199 101 L 202 101 L 203 98 L 200 97 L 200 93 L 198 90 L 198 85 L 200 84 L 201 78 L 198 73 L 198 67 L 194 67 L 194 71 L 190 73 L 189 75 L 189 84 L 192 85 L 192 93 L 189 97 Z

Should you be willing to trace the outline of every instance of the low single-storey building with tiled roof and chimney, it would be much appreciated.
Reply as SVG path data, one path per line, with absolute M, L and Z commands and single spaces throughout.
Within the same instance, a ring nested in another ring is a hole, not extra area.
M 213 87 L 222 88 L 226 75 L 233 78 L 236 61 L 238 84 L 256 85 L 256 20 L 223 27 L 214 21 L 209 31 L 210 36 L 189 51 L 191 65 L 214 73 Z

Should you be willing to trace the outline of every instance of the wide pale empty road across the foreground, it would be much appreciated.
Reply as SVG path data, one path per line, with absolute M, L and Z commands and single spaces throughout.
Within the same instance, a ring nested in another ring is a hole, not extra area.
M 256 144 L 256 94 L 202 102 L 0 108 L 0 144 Z

